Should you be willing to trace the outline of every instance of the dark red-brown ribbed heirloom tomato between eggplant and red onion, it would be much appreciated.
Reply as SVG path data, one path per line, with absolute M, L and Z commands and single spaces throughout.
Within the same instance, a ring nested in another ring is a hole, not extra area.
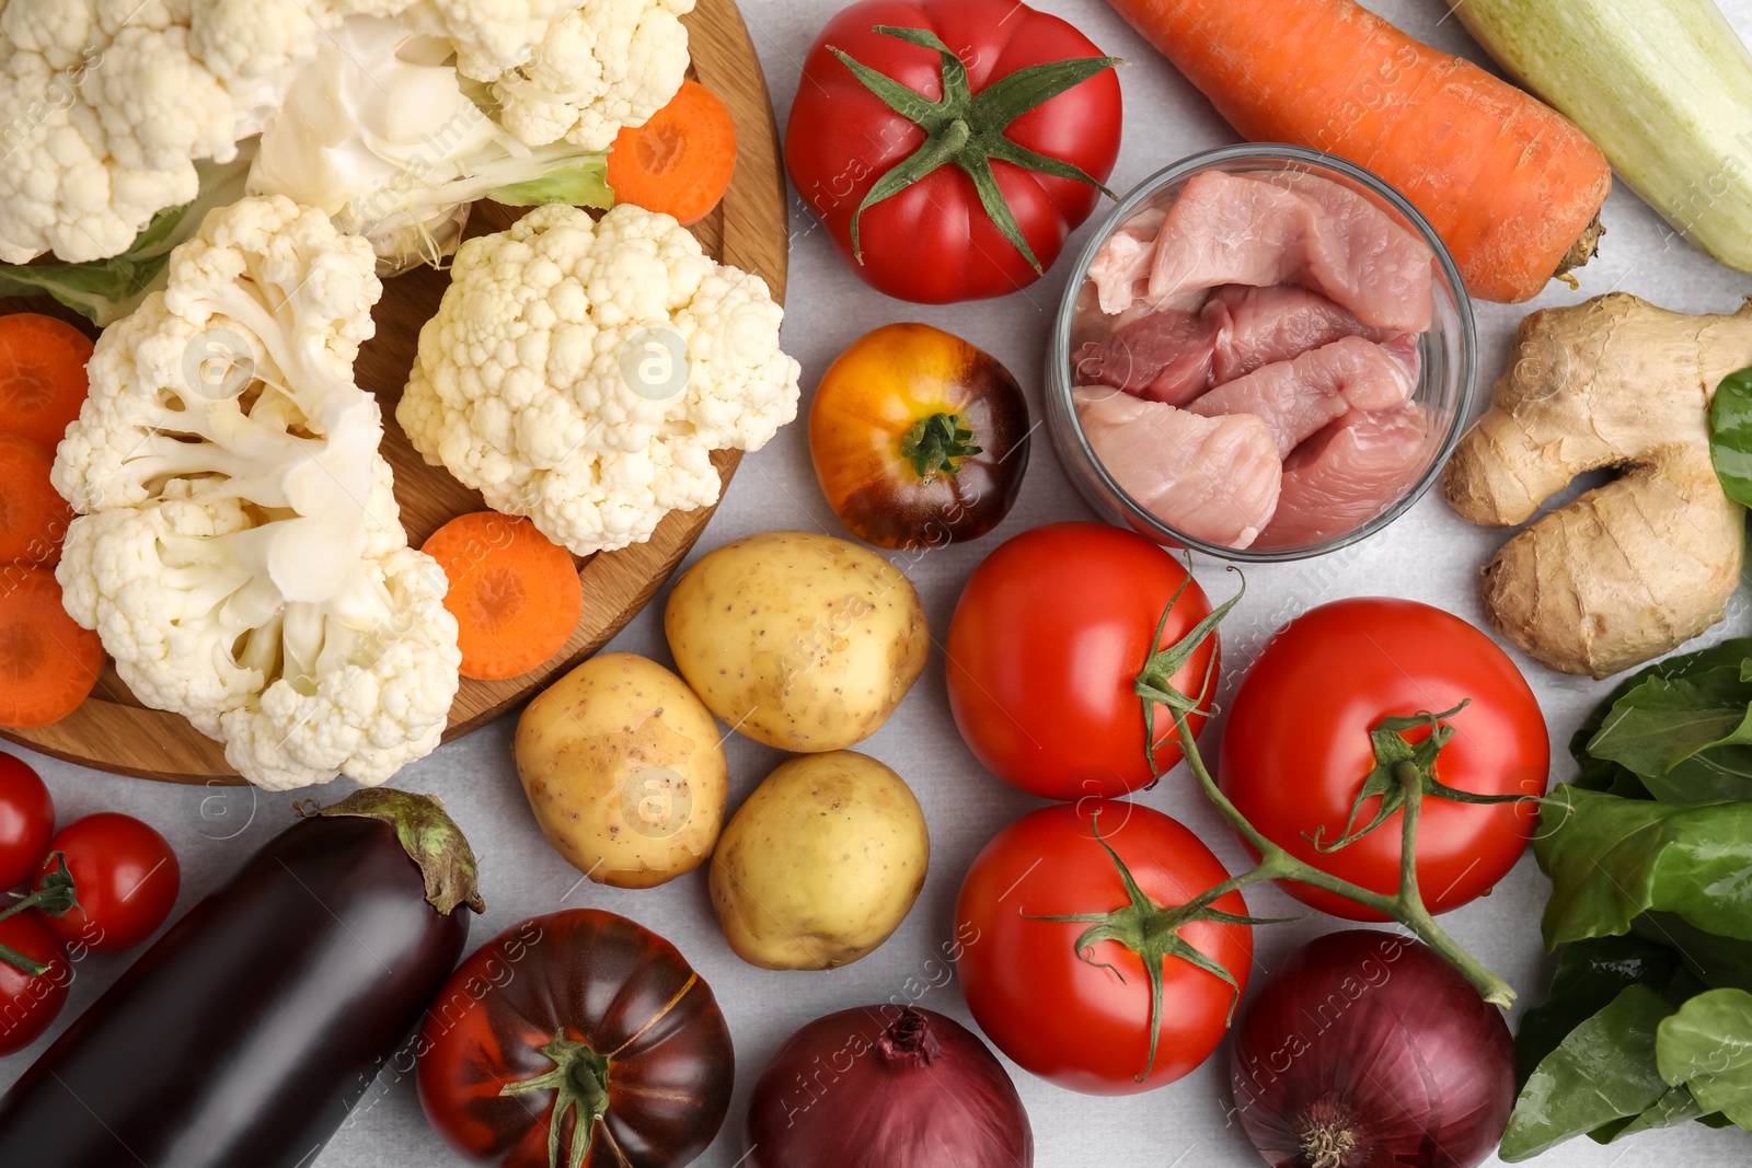
M 477 949 L 419 1052 L 426 1117 L 505 1168 L 680 1168 L 724 1126 L 736 1077 L 711 988 L 668 940 L 597 909 Z

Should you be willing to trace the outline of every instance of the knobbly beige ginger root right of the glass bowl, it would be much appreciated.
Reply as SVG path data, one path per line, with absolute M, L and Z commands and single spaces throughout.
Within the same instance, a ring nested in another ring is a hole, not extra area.
M 1484 569 L 1503 636 L 1563 672 L 1640 665 L 1722 618 L 1745 510 L 1710 462 L 1708 406 L 1752 366 L 1752 298 L 1692 317 L 1624 292 L 1528 315 L 1442 494 L 1472 524 L 1524 524 L 1570 482 L 1622 471 L 1517 534 Z

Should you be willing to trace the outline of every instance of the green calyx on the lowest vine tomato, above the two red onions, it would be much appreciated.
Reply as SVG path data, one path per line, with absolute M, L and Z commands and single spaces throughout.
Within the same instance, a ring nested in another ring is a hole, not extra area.
M 1132 879 L 1132 870 L 1125 867 L 1125 860 L 1121 860 L 1120 853 L 1113 849 L 1113 844 L 1102 837 L 1100 811 L 1095 811 L 1090 816 L 1090 830 L 1095 834 L 1095 842 L 1107 851 L 1107 858 L 1113 860 L 1113 867 L 1118 869 L 1120 883 L 1125 884 L 1127 904 L 1109 912 L 1070 912 L 1065 916 L 1028 916 L 1023 912 L 1023 918 L 1030 921 L 1088 925 L 1088 928 L 1083 930 L 1074 942 L 1077 960 L 1111 972 L 1121 982 L 1125 981 L 1125 974 L 1111 963 L 1097 961 L 1091 956 L 1095 946 L 1104 940 L 1113 940 L 1142 961 L 1144 975 L 1149 979 L 1149 1059 L 1144 1063 L 1144 1070 L 1132 1075 L 1132 1079 L 1135 1082 L 1144 1082 L 1149 1079 L 1149 1072 L 1156 1066 L 1156 1044 L 1162 1038 L 1162 968 L 1169 958 L 1179 958 L 1190 965 L 1197 965 L 1204 972 L 1212 977 L 1221 977 L 1228 984 L 1228 1021 L 1235 1019 L 1235 1003 L 1240 998 L 1240 984 L 1235 981 L 1235 975 L 1230 974 L 1221 961 L 1214 960 L 1211 954 L 1181 937 L 1181 930 L 1195 921 L 1218 921 L 1223 925 L 1275 925 L 1279 918 L 1242 916 L 1239 912 L 1225 912 L 1223 909 L 1211 907 L 1211 902 L 1226 895 L 1228 888 L 1223 888 L 1218 895 L 1205 893 L 1188 904 L 1165 909 L 1144 895 L 1144 890 L 1137 886 L 1135 879 Z M 1225 1024 L 1228 1024 L 1228 1021 Z

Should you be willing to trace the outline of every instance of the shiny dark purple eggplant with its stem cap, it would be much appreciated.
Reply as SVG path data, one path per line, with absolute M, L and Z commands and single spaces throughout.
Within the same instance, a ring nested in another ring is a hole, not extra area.
M 268 841 L 0 1098 L 0 1164 L 308 1166 L 463 956 L 475 856 L 361 790 Z

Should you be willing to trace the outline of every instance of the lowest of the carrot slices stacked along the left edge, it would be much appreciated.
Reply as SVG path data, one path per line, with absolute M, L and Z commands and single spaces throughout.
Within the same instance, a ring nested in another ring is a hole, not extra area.
M 47 567 L 0 567 L 0 727 L 28 730 L 79 709 L 103 672 L 98 634 L 61 608 Z

